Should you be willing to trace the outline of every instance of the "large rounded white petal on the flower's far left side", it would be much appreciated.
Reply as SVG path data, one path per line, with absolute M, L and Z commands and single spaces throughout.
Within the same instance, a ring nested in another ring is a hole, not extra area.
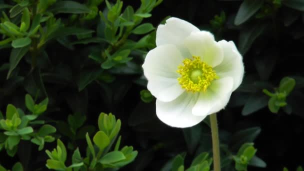
M 144 76 L 148 80 L 148 90 L 161 101 L 171 101 L 184 90 L 177 81 L 176 72 L 183 58 L 172 44 L 164 44 L 150 50 L 142 64 Z

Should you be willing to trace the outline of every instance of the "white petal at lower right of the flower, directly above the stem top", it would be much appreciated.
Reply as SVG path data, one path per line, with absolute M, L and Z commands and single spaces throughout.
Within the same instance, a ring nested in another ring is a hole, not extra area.
M 231 77 L 213 80 L 206 92 L 200 92 L 197 102 L 192 108 L 195 115 L 208 115 L 224 108 L 228 103 L 233 85 Z M 228 99 L 227 99 L 227 94 Z

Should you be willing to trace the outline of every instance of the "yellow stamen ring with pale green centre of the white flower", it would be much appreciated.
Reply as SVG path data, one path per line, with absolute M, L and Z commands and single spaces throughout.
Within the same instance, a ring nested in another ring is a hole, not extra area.
M 186 91 L 205 92 L 213 79 L 218 79 L 213 68 L 200 60 L 199 56 L 185 58 L 183 65 L 179 65 L 177 78 L 179 84 Z

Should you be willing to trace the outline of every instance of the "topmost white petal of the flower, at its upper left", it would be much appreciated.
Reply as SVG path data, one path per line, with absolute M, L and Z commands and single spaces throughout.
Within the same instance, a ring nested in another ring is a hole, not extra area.
M 183 45 L 183 40 L 192 31 L 199 31 L 199 29 L 185 20 L 170 17 L 166 20 L 165 24 L 158 25 L 157 27 L 156 46 L 175 44 L 182 52 L 183 57 L 189 57 L 189 53 Z

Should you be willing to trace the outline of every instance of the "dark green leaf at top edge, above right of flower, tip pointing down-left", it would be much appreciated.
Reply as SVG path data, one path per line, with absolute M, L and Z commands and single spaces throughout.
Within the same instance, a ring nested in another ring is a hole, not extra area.
M 234 19 L 234 24 L 239 25 L 248 20 L 263 4 L 263 0 L 244 0 Z

